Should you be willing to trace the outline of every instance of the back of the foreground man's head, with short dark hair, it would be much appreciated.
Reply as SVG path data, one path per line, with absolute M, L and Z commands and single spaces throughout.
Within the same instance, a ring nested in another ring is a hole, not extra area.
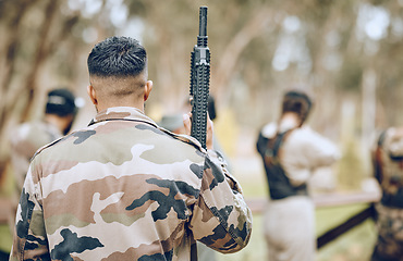
M 97 44 L 87 59 L 89 80 L 98 99 L 119 101 L 139 91 L 147 82 L 147 53 L 130 37 L 110 37 Z

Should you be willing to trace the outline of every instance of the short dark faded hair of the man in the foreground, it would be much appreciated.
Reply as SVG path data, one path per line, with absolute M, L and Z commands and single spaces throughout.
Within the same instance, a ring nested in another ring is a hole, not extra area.
M 137 76 L 147 66 L 146 49 L 130 37 L 110 37 L 97 44 L 87 59 L 89 75 Z

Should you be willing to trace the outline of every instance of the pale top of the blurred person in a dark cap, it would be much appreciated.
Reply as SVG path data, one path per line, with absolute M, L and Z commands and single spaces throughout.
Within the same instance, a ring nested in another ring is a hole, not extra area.
M 11 159 L 19 195 L 35 152 L 62 136 L 57 126 L 45 121 L 23 123 L 12 132 L 10 135 Z

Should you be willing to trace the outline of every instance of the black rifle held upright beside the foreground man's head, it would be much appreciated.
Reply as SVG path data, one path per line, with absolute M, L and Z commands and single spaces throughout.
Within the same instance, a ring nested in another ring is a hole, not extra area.
M 206 149 L 207 99 L 210 82 L 210 50 L 207 47 L 207 7 L 200 7 L 197 45 L 191 53 L 191 136 Z

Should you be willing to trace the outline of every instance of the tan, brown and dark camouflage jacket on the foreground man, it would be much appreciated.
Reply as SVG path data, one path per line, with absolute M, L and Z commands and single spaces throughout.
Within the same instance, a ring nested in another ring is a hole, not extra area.
M 219 153 L 112 108 L 34 157 L 15 228 L 10 260 L 195 260 L 244 248 L 252 214 Z

